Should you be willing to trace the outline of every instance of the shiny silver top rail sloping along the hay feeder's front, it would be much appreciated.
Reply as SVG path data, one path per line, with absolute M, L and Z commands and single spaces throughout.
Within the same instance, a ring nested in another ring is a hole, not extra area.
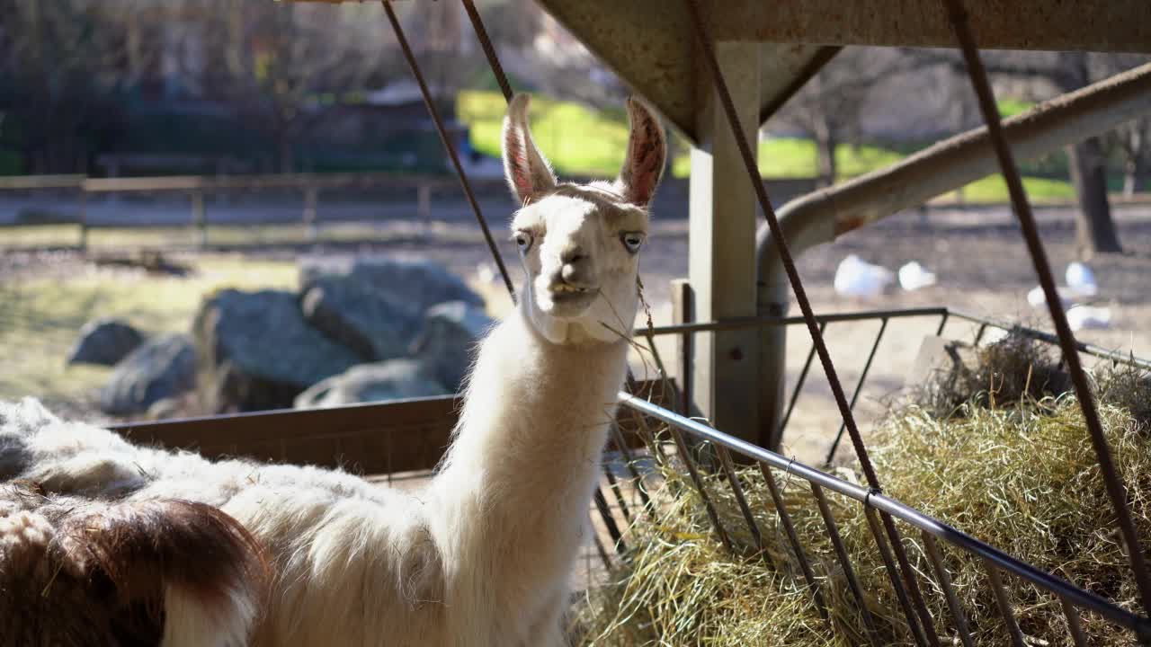
M 920 512 L 918 510 L 882 493 L 874 493 L 859 485 L 837 479 L 826 472 L 821 472 L 820 470 L 805 465 L 803 463 L 780 456 L 779 454 L 769 451 L 738 437 L 730 436 L 723 432 L 708 427 L 707 425 L 679 416 L 678 413 L 651 404 L 645 399 L 634 397 L 627 393 L 620 391 L 618 394 L 618 398 L 623 405 L 650 416 L 657 420 L 662 420 L 666 423 L 671 429 L 683 429 L 693 436 L 699 436 L 716 444 L 724 446 L 737 454 L 747 456 L 754 460 L 762 460 L 772 467 L 783 470 L 790 474 L 795 474 L 796 477 L 811 484 L 822 486 L 826 489 L 862 502 L 871 508 L 875 508 L 876 510 L 886 512 L 921 531 L 931 533 L 936 539 L 942 539 L 943 541 L 966 550 L 971 555 L 983 557 L 1015 577 L 1023 578 L 1045 591 L 1050 591 L 1061 597 L 1065 597 L 1077 607 L 1090 609 L 1119 626 L 1130 629 L 1139 637 L 1151 637 L 1151 621 L 1148 618 L 1122 609 L 1108 600 L 1088 591 L 1083 591 L 1082 588 L 1052 576 L 1051 573 L 1041 571 L 1027 562 L 1016 560 L 1015 557 L 1012 557 L 989 543 L 980 541 L 953 526 L 944 524 L 933 517 L 929 517 L 928 515 L 924 515 L 923 512 Z

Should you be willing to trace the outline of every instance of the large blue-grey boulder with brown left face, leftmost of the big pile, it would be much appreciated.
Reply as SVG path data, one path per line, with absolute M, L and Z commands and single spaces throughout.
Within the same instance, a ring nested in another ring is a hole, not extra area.
M 291 292 L 222 290 L 200 304 L 192 329 L 208 413 L 288 408 L 307 387 L 360 363 L 307 325 Z

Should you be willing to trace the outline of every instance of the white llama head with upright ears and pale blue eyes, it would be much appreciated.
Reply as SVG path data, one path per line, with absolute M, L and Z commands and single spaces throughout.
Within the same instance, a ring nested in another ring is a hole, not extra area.
M 527 94 L 517 94 L 503 124 L 503 161 L 523 205 L 512 234 L 527 272 L 520 309 L 552 343 L 594 343 L 630 334 L 639 307 L 639 256 L 648 203 L 663 173 L 663 128 L 627 100 L 631 136 L 613 183 L 561 183 L 532 142 Z

